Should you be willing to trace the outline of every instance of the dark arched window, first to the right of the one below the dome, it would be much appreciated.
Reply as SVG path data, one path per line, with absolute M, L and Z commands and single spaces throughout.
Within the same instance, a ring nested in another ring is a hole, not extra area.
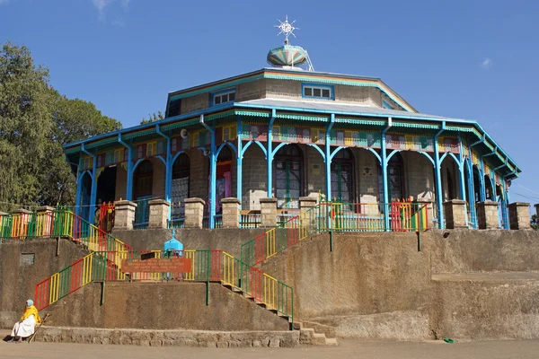
M 354 157 L 348 148 L 335 153 L 331 160 L 331 199 L 354 202 Z

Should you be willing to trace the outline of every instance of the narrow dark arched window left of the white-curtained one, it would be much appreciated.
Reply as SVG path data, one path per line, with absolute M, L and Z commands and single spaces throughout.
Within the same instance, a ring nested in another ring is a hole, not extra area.
M 133 188 L 137 209 L 135 210 L 135 224 L 147 223 L 150 219 L 150 206 L 148 202 L 152 197 L 154 186 L 154 166 L 145 160 L 140 162 L 134 175 L 135 188 Z

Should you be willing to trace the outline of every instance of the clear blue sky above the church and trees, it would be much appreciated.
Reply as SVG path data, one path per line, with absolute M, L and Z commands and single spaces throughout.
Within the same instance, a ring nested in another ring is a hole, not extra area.
M 0 42 L 130 127 L 168 92 L 266 66 L 285 14 L 316 70 L 381 77 L 421 112 L 480 121 L 523 170 L 511 201 L 539 202 L 539 2 L 0 0 Z

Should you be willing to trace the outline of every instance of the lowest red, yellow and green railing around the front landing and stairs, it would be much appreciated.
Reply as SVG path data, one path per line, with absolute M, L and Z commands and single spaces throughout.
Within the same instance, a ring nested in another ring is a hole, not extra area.
M 187 273 L 124 273 L 123 259 L 128 258 L 191 259 Z M 94 251 L 74 264 L 55 273 L 36 285 L 35 305 L 38 310 L 47 308 L 69 293 L 93 281 L 192 281 L 220 282 L 243 291 L 269 310 L 277 311 L 294 322 L 294 292 L 292 287 L 263 273 L 260 269 L 243 263 L 223 250 L 135 250 Z

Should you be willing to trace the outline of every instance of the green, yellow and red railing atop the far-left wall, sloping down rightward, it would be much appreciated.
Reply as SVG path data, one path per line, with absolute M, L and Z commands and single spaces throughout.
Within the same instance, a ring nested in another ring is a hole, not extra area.
M 2 215 L 0 235 L 3 240 L 65 237 L 84 244 L 89 250 L 132 250 L 123 241 L 63 208 L 52 212 Z

